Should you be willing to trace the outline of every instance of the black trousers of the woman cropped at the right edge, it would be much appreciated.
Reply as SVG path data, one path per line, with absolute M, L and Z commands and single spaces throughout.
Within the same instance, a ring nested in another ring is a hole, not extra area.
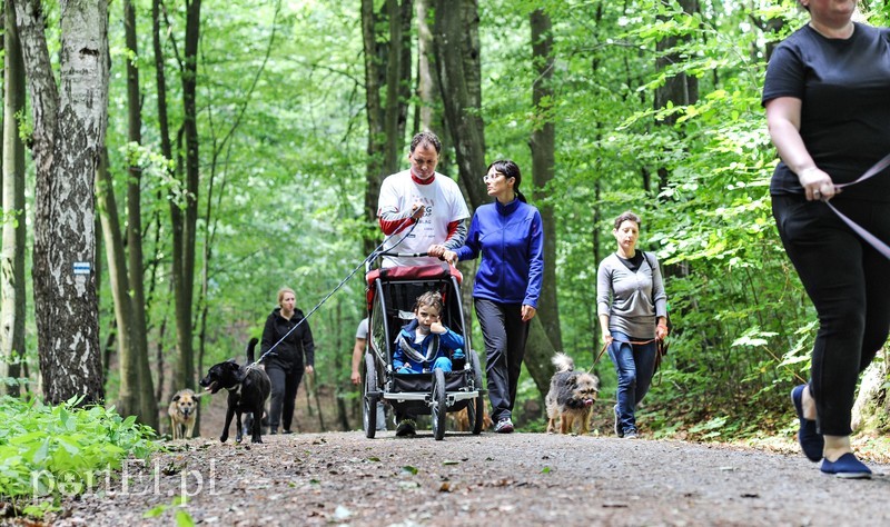
M 832 199 L 844 216 L 890 242 L 890 203 Z M 819 315 L 810 391 L 821 434 L 849 436 L 859 374 L 890 332 L 890 260 L 821 201 L 773 196 L 785 251 Z

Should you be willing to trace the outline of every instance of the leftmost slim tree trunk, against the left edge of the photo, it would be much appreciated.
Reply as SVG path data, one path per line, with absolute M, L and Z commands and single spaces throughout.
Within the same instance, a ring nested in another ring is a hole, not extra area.
M 2 331 L 0 331 L 0 378 L 21 377 L 24 355 L 24 143 L 19 137 L 17 113 L 24 108 L 24 64 L 16 29 L 12 0 L 3 6 L 4 98 L 3 98 L 3 246 L 0 261 Z M 20 394 L 19 385 L 6 392 Z

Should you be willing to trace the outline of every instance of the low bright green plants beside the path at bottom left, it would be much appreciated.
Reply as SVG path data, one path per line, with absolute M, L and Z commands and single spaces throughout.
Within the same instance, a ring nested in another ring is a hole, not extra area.
M 95 488 L 129 456 L 147 458 L 154 430 L 113 408 L 0 398 L 0 496 L 71 496 Z M 37 510 L 36 510 L 37 511 Z

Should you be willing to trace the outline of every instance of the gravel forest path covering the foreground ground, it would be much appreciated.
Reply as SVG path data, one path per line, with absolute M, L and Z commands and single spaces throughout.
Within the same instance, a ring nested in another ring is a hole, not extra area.
M 890 525 L 890 466 L 823 476 L 802 455 L 545 434 L 386 431 L 171 444 L 53 525 Z M 172 507 L 182 490 L 191 495 Z M 146 511 L 160 507 L 157 519 Z M 162 510 L 162 511 L 161 511 Z

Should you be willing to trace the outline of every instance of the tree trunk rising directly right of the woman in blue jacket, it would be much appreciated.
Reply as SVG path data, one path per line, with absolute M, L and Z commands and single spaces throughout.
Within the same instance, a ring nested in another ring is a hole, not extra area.
M 555 349 L 563 349 L 562 330 L 560 329 L 560 308 L 556 300 L 556 222 L 553 218 L 553 206 L 543 205 L 548 192 L 544 191 L 553 180 L 556 165 L 556 126 L 550 117 L 553 101 L 553 33 L 550 17 L 542 10 L 532 11 L 532 61 L 536 81 L 532 87 L 532 103 L 535 119 L 532 130 L 532 175 L 534 177 L 534 197 L 541 220 L 544 223 L 544 284 L 541 287 L 537 316 L 544 331 Z

